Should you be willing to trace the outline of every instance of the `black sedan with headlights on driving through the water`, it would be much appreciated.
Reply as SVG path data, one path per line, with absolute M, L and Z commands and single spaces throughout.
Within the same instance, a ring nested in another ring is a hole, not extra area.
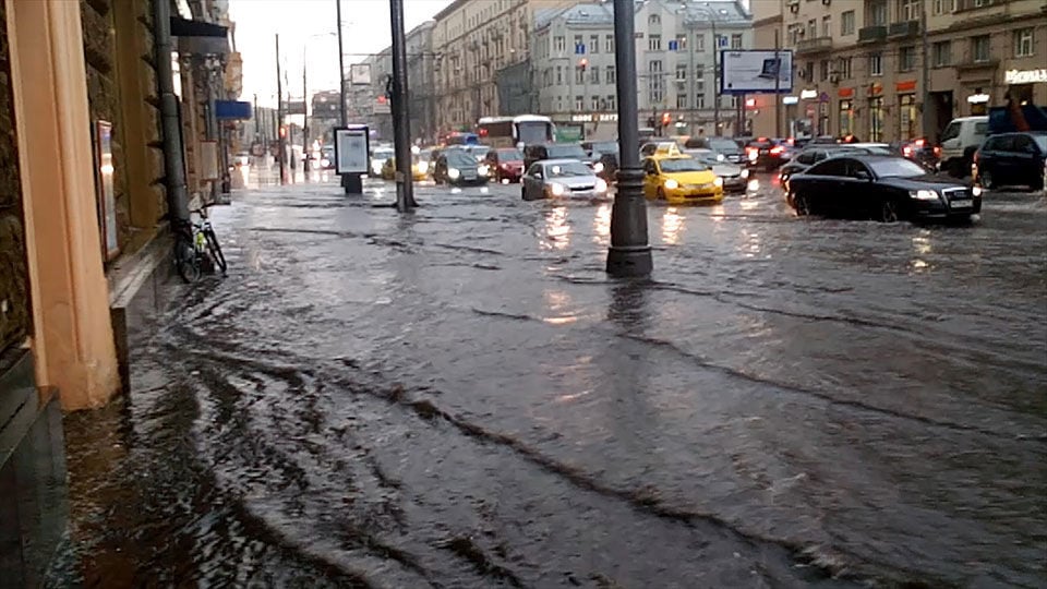
M 878 219 L 968 219 L 982 191 L 930 176 L 915 161 L 880 155 L 831 157 L 785 182 L 799 216 Z

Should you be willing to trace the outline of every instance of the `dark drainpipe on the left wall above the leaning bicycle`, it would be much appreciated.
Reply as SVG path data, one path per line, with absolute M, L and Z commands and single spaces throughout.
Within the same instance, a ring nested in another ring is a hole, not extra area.
M 189 191 L 185 188 L 185 155 L 182 127 L 178 120 L 174 70 L 171 67 L 171 5 L 153 2 L 153 33 L 156 46 L 156 80 L 160 94 L 160 120 L 164 130 L 164 171 L 167 212 L 171 219 L 189 220 Z

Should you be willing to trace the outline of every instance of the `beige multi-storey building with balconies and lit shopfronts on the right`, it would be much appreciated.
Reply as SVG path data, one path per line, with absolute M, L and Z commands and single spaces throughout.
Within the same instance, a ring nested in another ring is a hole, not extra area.
M 794 51 L 793 94 L 750 105 L 755 135 L 924 135 L 926 10 L 932 140 L 1007 96 L 1047 104 L 1043 0 L 754 0 L 755 43 Z M 777 117 L 775 111 L 780 115 Z M 779 119 L 775 122 L 775 119 Z

